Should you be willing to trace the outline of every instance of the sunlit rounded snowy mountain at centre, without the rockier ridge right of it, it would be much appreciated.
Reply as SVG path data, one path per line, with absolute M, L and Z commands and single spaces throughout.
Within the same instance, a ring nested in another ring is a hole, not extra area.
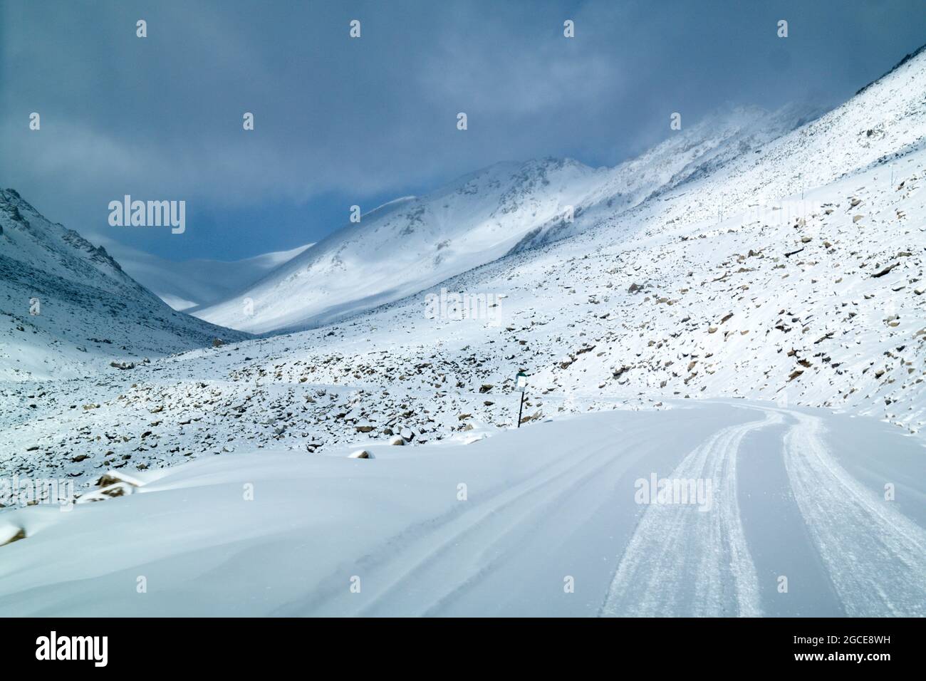
M 503 256 L 605 178 L 569 159 L 498 163 L 370 211 L 240 296 L 194 314 L 251 332 L 331 321 Z M 254 300 L 245 315 L 244 296 Z

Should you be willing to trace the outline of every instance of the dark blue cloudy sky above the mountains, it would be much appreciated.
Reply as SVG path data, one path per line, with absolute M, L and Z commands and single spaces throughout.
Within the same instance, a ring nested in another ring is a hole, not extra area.
M 92 240 L 245 258 L 499 160 L 614 165 L 673 111 L 834 106 L 924 27 L 923 0 L 0 0 L 0 185 Z M 186 233 L 109 227 L 125 194 L 186 200 Z

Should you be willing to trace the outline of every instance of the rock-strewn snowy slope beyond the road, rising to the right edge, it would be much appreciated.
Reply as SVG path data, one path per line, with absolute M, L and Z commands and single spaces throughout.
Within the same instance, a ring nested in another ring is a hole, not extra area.
M 323 451 L 406 426 L 419 442 L 470 422 L 510 424 L 507 391 L 525 369 L 531 419 L 627 400 L 751 397 L 869 414 L 920 434 L 924 92 L 920 55 L 761 153 L 571 238 L 337 325 L 115 373 L 94 386 L 95 427 L 141 434 L 149 409 L 167 405 L 151 435 L 163 447 L 124 446 L 146 465 L 242 443 Z M 382 208 L 381 220 L 407 204 Z M 491 320 L 429 318 L 425 295 L 440 287 L 507 297 Z M 88 445 L 79 435 L 87 417 L 59 406 L 82 389 L 62 386 L 58 402 L 14 410 L 0 425 L 60 450 L 64 460 L 43 460 L 51 470 L 87 472 L 69 462 L 75 448 L 95 466 L 113 448 Z M 6 398 L 22 400 L 21 390 Z M 198 425 L 178 426 L 190 418 Z M 25 449 L 9 450 L 7 465 L 33 465 Z

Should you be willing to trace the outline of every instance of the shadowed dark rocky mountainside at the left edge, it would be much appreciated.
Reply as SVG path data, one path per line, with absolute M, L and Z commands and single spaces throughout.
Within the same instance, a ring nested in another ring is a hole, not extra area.
M 88 362 L 164 355 L 215 337 L 246 334 L 169 309 L 105 248 L 0 191 L 0 379 L 81 375 Z

